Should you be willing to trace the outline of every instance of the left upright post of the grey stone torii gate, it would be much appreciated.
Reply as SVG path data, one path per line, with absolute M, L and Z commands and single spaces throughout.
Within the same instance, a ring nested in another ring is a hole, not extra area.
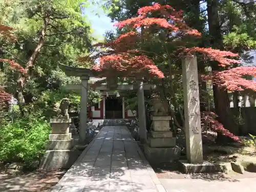
M 86 142 L 87 129 L 87 104 L 88 104 L 88 80 L 89 77 L 80 77 L 81 79 L 81 98 L 80 98 L 80 126 L 79 126 L 79 144 Z

